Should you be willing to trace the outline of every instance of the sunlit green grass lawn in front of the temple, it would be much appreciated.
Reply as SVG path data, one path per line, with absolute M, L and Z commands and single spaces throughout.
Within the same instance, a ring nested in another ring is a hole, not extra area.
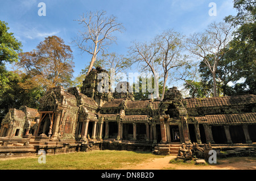
M 46 155 L 46 163 L 38 163 L 39 157 L 4 160 L 0 161 L 0 170 L 111 170 L 162 157 L 141 151 L 96 150 Z

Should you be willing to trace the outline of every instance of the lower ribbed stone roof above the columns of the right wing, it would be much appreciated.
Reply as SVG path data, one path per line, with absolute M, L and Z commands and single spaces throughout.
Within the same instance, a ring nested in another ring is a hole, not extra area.
M 239 123 L 256 123 L 256 112 L 234 113 L 226 115 L 206 115 L 195 117 L 199 123 L 208 124 L 239 124 Z

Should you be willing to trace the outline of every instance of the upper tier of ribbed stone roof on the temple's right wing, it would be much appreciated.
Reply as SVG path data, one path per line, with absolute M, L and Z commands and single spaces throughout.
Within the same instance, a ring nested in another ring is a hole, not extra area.
M 224 96 L 214 98 L 193 98 L 185 99 L 187 108 L 195 107 L 213 107 L 213 106 L 233 106 L 256 103 L 256 95 L 239 95 L 239 96 Z

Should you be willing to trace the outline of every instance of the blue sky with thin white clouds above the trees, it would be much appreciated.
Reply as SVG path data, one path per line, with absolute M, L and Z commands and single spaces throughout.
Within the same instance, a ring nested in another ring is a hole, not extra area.
M 46 3 L 46 16 L 38 15 L 39 2 Z M 208 13 L 210 2 L 217 5 L 216 16 Z M 72 47 L 74 76 L 89 65 L 91 59 L 71 44 L 82 30 L 75 20 L 86 11 L 97 10 L 105 10 L 123 23 L 126 31 L 115 34 L 117 44 L 112 44 L 109 50 L 125 55 L 134 40 L 148 41 L 168 28 L 189 35 L 203 31 L 213 21 L 220 22 L 225 16 L 236 14 L 233 0 L 0 0 L 0 20 L 8 23 L 9 31 L 22 42 L 23 52 L 35 49 L 44 37 L 59 36 Z

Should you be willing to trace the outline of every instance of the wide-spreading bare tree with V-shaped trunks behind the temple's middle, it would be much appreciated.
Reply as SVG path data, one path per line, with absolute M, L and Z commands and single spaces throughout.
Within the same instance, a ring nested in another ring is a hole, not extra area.
M 150 70 L 154 77 L 159 75 L 163 78 L 163 92 L 161 100 L 164 98 L 166 83 L 170 71 L 187 64 L 186 56 L 183 55 L 184 36 L 174 30 L 166 30 L 157 35 L 151 42 L 134 43 L 130 47 L 134 62 L 142 65 L 142 70 Z M 156 86 L 159 83 L 156 81 Z

